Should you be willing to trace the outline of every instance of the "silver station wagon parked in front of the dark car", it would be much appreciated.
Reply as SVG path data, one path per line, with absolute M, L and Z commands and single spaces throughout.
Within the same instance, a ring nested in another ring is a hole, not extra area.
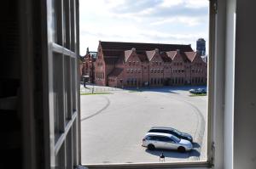
M 148 147 L 149 150 L 177 149 L 180 152 L 193 149 L 193 145 L 188 140 L 161 132 L 148 132 L 143 138 L 143 147 Z

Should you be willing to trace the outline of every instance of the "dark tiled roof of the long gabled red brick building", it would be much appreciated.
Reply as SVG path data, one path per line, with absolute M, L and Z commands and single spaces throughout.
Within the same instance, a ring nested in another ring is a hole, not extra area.
M 195 58 L 193 55 L 195 52 L 190 45 L 141 42 L 100 42 L 100 45 L 104 59 L 108 58 L 105 60 L 110 64 L 126 62 L 135 50 L 141 62 L 148 62 L 153 59 L 157 51 L 160 51 L 161 59 L 163 59 L 164 62 L 172 62 L 177 54 L 180 54 L 184 61 L 193 61 Z

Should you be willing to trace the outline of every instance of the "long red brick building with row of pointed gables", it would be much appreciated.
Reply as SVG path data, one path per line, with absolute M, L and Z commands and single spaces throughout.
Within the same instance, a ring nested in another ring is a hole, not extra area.
M 95 82 L 111 87 L 206 85 L 207 64 L 190 45 L 99 42 Z

